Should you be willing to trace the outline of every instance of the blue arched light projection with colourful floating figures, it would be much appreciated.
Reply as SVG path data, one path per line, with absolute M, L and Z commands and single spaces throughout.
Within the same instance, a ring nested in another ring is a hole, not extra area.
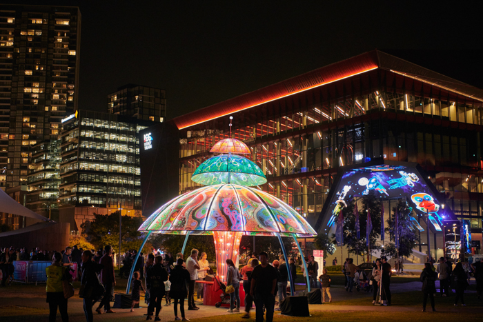
M 355 168 L 342 175 L 342 179 L 337 184 L 337 193 L 334 194 L 328 208 L 331 217 L 327 225 L 334 224 L 339 212 L 353 197 L 364 197 L 371 191 L 381 199 L 408 197 L 415 210 L 420 214 L 428 215 L 435 230 L 442 231 L 440 205 L 416 168 L 386 164 Z M 413 218 L 411 222 L 415 228 L 424 231 L 416 219 Z

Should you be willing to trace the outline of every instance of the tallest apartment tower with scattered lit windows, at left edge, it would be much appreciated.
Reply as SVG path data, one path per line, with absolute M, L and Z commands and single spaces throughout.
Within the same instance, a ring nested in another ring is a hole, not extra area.
M 77 7 L 0 5 L 1 187 L 27 184 L 29 172 L 52 177 L 37 161 L 77 109 L 80 23 Z

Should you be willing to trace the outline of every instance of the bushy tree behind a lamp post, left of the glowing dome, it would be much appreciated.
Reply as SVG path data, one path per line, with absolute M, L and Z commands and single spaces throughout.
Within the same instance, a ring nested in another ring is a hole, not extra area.
M 141 223 L 142 217 L 122 217 L 121 252 L 139 250 L 146 236 L 145 233 L 137 231 Z M 94 220 L 84 222 L 81 229 L 82 234 L 86 235 L 86 240 L 95 245 L 97 250 L 105 245 L 111 245 L 115 253 L 119 253 L 119 211 L 108 215 L 95 214 Z M 146 243 L 143 252 L 148 252 L 150 247 L 152 246 Z

